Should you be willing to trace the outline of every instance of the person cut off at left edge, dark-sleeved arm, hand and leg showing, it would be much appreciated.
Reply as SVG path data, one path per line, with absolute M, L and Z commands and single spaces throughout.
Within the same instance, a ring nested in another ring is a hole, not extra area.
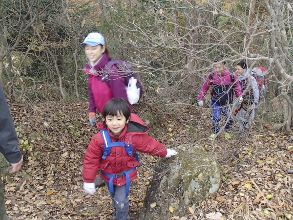
M 10 174 L 14 174 L 21 169 L 22 154 L 18 147 L 18 137 L 12 121 L 10 110 L 0 82 L 0 152 L 11 164 Z M 1 171 L 0 171 L 1 174 Z M 6 215 L 3 183 L 0 178 L 0 220 L 9 220 Z

